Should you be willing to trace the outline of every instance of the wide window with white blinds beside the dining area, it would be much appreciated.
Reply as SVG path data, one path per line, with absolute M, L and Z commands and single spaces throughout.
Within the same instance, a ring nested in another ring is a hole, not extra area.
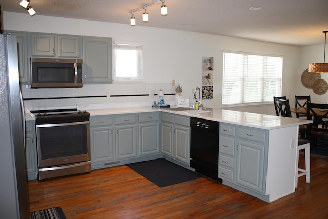
M 223 51 L 222 106 L 281 96 L 282 56 Z

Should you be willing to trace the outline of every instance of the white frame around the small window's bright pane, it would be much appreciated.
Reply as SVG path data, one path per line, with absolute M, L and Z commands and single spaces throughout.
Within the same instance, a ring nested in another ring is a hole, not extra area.
M 117 76 L 117 50 L 135 50 L 136 51 L 136 76 Z M 125 42 L 125 41 L 114 41 L 113 44 L 113 81 L 117 82 L 128 82 L 128 81 L 141 81 L 143 79 L 143 72 L 142 72 L 142 44 L 141 43 L 135 43 L 135 42 Z

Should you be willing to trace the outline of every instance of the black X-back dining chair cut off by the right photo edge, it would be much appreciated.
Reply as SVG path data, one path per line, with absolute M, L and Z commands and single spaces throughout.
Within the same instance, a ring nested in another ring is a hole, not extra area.
M 328 144 L 328 104 L 308 103 L 309 135 L 311 147 L 320 147 Z

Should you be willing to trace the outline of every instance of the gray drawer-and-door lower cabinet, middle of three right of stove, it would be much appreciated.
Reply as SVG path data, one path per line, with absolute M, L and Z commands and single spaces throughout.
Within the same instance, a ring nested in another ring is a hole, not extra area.
M 137 157 L 136 115 L 115 116 L 116 159 Z

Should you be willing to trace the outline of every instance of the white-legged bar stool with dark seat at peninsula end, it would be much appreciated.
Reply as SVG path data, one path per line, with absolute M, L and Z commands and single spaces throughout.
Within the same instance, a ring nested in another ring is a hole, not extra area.
M 299 151 L 305 149 L 305 169 L 298 168 Z M 298 177 L 306 175 L 306 183 L 310 183 L 310 141 L 298 138 L 296 156 L 295 188 L 297 188 Z M 301 173 L 298 173 L 301 172 Z

